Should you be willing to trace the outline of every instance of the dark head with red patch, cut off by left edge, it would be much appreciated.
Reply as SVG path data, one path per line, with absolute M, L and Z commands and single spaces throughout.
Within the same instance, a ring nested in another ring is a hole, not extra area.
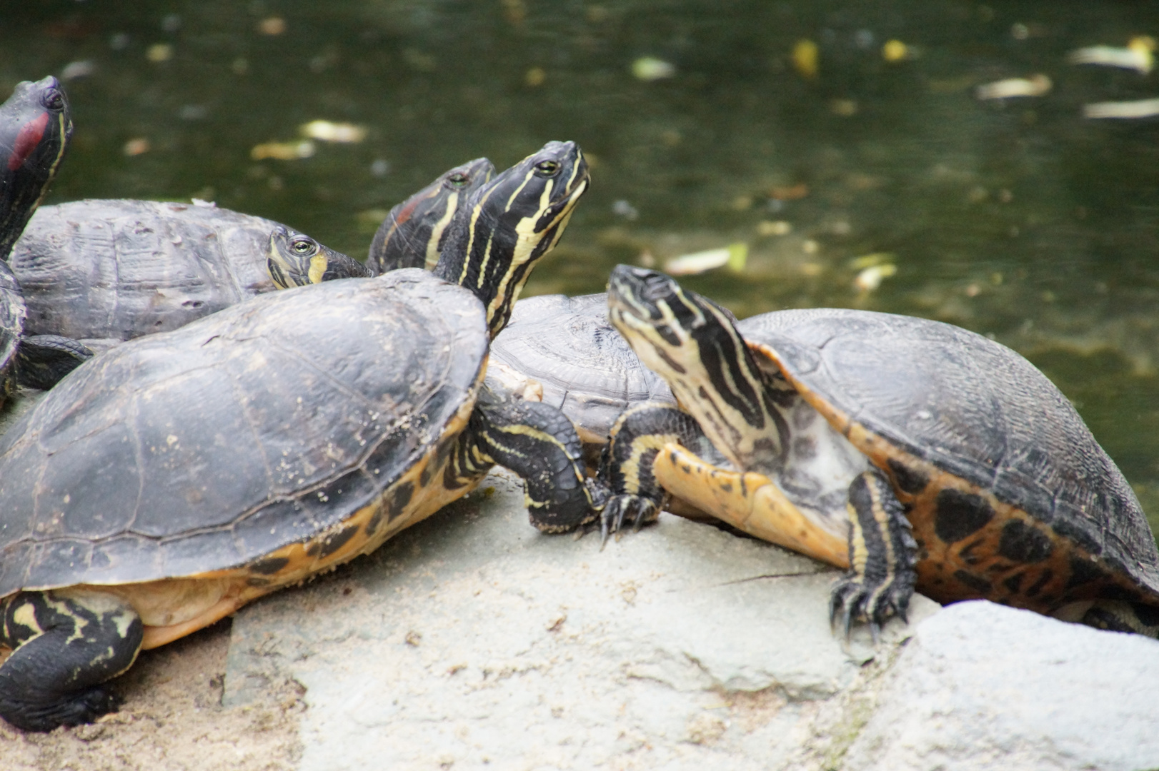
M 0 258 L 48 192 L 70 137 L 68 100 L 51 75 L 17 83 L 0 105 Z

